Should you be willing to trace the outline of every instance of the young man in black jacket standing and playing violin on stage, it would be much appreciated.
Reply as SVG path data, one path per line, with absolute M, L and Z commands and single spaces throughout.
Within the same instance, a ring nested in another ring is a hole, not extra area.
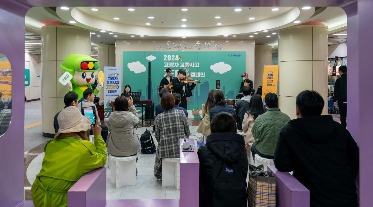
M 186 75 L 186 72 L 184 69 L 179 69 L 178 76 L 174 79 L 172 79 L 172 86 L 174 93 L 178 93 L 181 95 L 181 104 L 179 104 L 180 107 L 183 107 L 186 109 L 186 98 L 193 96 L 192 90 L 195 87 L 195 84 L 197 83 L 197 80 L 194 80 L 192 85 L 189 85 L 188 81 L 181 82 L 180 80 Z

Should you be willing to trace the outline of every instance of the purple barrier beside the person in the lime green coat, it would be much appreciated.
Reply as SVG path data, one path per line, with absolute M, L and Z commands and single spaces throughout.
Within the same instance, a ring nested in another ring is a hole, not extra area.
M 106 167 L 87 172 L 70 188 L 68 206 L 106 206 Z

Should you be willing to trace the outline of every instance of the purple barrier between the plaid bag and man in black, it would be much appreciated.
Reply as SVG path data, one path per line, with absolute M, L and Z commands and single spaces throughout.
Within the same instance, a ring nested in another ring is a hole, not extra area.
M 310 191 L 289 172 L 280 172 L 273 165 L 267 169 L 277 178 L 277 207 L 310 206 Z

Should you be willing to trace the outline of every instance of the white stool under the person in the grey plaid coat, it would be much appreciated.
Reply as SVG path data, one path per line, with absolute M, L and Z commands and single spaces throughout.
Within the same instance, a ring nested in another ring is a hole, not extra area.
M 162 159 L 162 187 L 171 185 L 180 189 L 180 158 Z

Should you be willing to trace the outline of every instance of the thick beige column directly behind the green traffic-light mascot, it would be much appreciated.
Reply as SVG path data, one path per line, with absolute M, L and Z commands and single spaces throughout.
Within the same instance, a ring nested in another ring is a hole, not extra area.
M 60 22 L 41 28 L 42 38 L 42 83 L 41 106 L 43 136 L 54 135 L 53 118 L 63 109 L 63 97 L 67 86 L 58 79 L 62 76 L 61 63 L 70 54 L 91 55 L 90 30 L 69 26 Z

